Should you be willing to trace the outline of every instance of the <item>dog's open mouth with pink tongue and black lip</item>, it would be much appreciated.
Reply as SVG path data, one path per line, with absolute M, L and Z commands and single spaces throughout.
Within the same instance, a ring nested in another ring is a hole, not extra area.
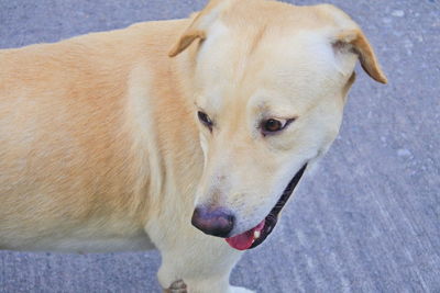
M 226 238 L 227 243 L 238 249 L 238 250 L 246 250 L 251 248 L 255 248 L 261 245 L 267 236 L 274 229 L 276 222 L 278 221 L 278 215 L 284 205 L 287 203 L 287 200 L 290 198 L 292 193 L 294 192 L 296 185 L 298 184 L 299 180 L 301 179 L 304 171 L 307 168 L 307 164 L 302 166 L 301 169 L 295 174 L 295 177 L 290 180 L 287 184 L 286 189 L 283 192 L 283 195 L 275 204 L 275 206 L 271 210 L 268 215 L 260 222 L 258 225 L 249 229 L 242 234 Z

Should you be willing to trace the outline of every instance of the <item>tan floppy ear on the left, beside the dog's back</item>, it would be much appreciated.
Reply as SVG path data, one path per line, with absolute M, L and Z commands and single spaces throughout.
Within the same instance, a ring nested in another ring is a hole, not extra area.
M 193 23 L 186 29 L 177 43 L 169 50 L 168 56 L 174 57 L 185 50 L 196 40 L 204 41 L 207 30 L 219 18 L 220 13 L 235 0 L 211 0 L 207 7 L 196 14 Z

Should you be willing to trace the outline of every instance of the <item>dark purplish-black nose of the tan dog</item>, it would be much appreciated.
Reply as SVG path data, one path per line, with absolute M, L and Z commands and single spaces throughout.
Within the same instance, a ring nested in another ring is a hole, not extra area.
M 226 209 L 197 206 L 193 214 L 191 224 L 208 235 L 226 238 L 233 228 L 234 216 L 232 212 Z

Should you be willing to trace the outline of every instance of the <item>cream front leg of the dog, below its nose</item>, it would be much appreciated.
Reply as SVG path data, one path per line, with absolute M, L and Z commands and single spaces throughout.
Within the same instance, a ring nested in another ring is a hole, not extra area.
M 161 224 L 148 234 L 161 250 L 162 266 L 157 277 L 161 285 L 168 290 L 165 292 L 173 292 L 169 290 L 177 280 L 183 280 L 188 293 L 252 292 L 229 284 L 230 272 L 241 252 L 229 247 L 224 239 L 207 236 L 187 223 L 172 229 L 169 225 L 161 227 Z

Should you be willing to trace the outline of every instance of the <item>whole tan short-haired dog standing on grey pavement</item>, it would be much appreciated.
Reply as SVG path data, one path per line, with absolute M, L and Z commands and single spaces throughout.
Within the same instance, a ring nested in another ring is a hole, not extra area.
M 333 142 L 358 59 L 386 82 L 346 14 L 263 0 L 2 50 L 0 247 L 156 247 L 164 288 L 246 292 L 239 250 Z

